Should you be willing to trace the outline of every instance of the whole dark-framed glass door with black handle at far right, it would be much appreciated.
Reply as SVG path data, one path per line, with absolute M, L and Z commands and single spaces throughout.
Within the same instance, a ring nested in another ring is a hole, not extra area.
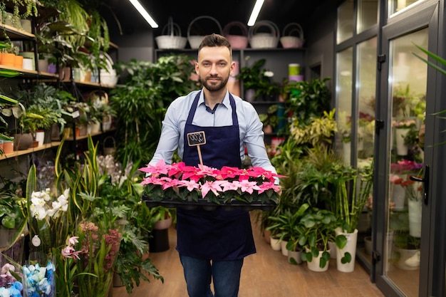
M 426 58 L 417 46 L 435 46 L 437 7 L 434 1 L 420 3 L 383 27 L 374 261 L 376 283 L 385 296 L 430 296 L 435 269 L 430 263 L 435 197 L 429 174 L 432 178 L 433 167 L 442 171 L 432 162 L 437 149 L 430 142 L 437 99 L 432 71 L 415 54 Z

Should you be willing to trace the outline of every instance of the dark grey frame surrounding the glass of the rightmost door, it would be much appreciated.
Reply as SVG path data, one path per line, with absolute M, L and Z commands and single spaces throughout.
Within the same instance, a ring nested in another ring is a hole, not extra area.
M 381 1 L 383 4 L 383 1 Z M 384 4 L 384 6 L 386 6 Z M 421 1 L 418 5 L 407 11 L 401 11 L 400 14 L 387 19 L 387 14 L 383 11 L 383 19 L 386 19 L 385 26 L 380 32 L 381 53 L 386 57 L 390 55 L 390 41 L 399 36 L 418 31 L 421 28 L 428 27 L 429 50 L 435 53 L 445 52 L 439 45 L 445 42 L 444 31 L 442 27 L 445 24 L 444 1 Z M 441 24 L 441 25 L 440 25 Z M 441 28 L 439 30 L 439 27 Z M 440 55 L 442 56 L 442 55 Z M 373 207 L 374 226 L 373 237 L 375 239 L 376 255 L 380 259 L 373 262 L 372 278 L 376 281 L 378 288 L 385 296 L 403 296 L 399 289 L 383 274 L 385 271 L 383 257 L 385 254 L 385 219 L 388 217 L 388 135 L 390 134 L 390 113 L 391 92 L 388 85 L 389 58 L 386 58 L 379 78 L 378 90 L 379 108 L 376 115 L 377 119 L 383 121 L 383 129 L 377 130 L 377 143 L 375 144 L 375 182 L 373 192 L 375 193 L 375 202 Z M 445 141 L 445 135 L 438 131 L 445 130 L 445 123 L 435 118 L 432 113 L 446 109 L 446 103 L 441 102 L 445 98 L 446 90 L 442 90 L 441 85 L 446 85 L 446 78 L 440 77 L 433 68 L 427 69 L 427 107 L 426 107 L 426 135 L 425 135 L 425 165 L 430 165 L 430 182 L 426 184 L 429 189 L 430 197 L 427 205 L 422 207 L 422 243 L 421 243 L 421 262 L 420 262 L 420 287 L 419 296 L 445 296 L 445 212 L 446 212 L 446 183 L 441 177 L 446 174 L 446 151 L 445 147 L 436 147 L 432 144 Z M 378 102 L 378 100 L 377 100 Z M 444 120 L 443 120 L 444 121 Z M 444 121 L 446 122 L 446 121 Z M 446 134 L 446 133 L 445 133 Z M 435 164 L 434 164 L 435 160 Z M 383 186 L 385 185 L 385 186 Z

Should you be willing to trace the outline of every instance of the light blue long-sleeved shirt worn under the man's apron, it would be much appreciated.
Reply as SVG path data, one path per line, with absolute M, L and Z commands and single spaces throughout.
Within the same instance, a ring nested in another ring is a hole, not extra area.
M 165 119 L 162 121 L 160 142 L 155 155 L 153 155 L 149 163 L 150 165 L 155 165 L 159 160 L 165 160 L 166 163 L 172 162 L 173 153 L 177 149 L 178 155 L 182 158 L 185 146 L 185 124 L 197 92 L 199 90 L 177 98 L 167 108 Z M 237 118 L 239 120 L 240 160 L 244 160 L 244 146 L 246 145 L 253 166 L 276 172 L 266 154 L 263 124 L 259 120 L 259 115 L 254 106 L 236 95 L 232 96 L 235 100 Z M 216 105 L 214 110 L 210 110 L 205 105 L 202 92 L 199 95 L 192 125 L 200 127 L 232 125 L 232 108 L 229 103 L 229 92 L 227 91 L 222 103 Z

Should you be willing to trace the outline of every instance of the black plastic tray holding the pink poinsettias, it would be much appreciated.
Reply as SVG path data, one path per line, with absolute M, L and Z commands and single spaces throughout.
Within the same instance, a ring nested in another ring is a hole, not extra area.
M 261 209 L 265 212 L 271 211 L 276 207 L 276 203 L 272 201 L 267 201 L 264 204 L 262 204 L 260 201 L 254 201 L 251 203 L 245 203 L 240 202 L 236 199 L 222 203 L 217 204 L 215 202 L 209 202 L 205 199 L 199 199 L 197 202 L 195 201 L 181 201 L 177 199 L 163 199 L 161 201 L 154 201 L 151 197 L 148 197 L 147 195 L 142 195 L 142 201 L 144 201 L 148 207 L 167 207 L 167 208 L 177 208 L 182 207 L 186 209 L 196 209 L 197 207 L 203 207 L 204 209 L 208 210 L 214 210 L 217 207 L 222 207 L 224 209 L 243 209 L 243 210 L 253 210 L 253 209 Z

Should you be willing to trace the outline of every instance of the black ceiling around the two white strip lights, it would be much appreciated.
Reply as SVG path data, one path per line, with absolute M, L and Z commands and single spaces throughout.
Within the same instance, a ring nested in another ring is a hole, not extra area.
M 296 22 L 305 27 L 311 21 L 313 14 L 321 8 L 324 1 L 330 0 L 265 0 L 257 20 L 269 20 L 283 30 L 286 24 Z M 187 36 L 187 28 L 198 16 L 212 16 L 217 19 L 224 28 L 232 21 L 241 21 L 247 24 L 249 14 L 255 0 L 224 0 L 212 2 L 207 0 L 178 1 L 178 0 L 140 0 L 142 6 L 157 21 L 159 28 L 154 29 L 154 35 L 163 35 L 162 29 L 171 16 L 174 23 L 178 24 L 182 36 Z M 150 26 L 145 23 L 128 0 L 108 0 L 108 6 L 120 22 L 123 34 L 128 35 L 139 31 L 147 31 Z M 109 9 L 101 9 L 101 14 L 107 20 L 110 32 L 116 33 L 118 25 L 113 19 Z M 191 26 L 191 34 L 204 35 L 212 30 L 217 30 L 217 24 L 210 19 L 199 19 Z M 196 32 L 193 32 L 196 31 Z M 199 32 L 202 31 L 202 32 Z M 305 28 L 304 28 L 305 31 Z M 281 32 L 280 32 L 281 33 Z

